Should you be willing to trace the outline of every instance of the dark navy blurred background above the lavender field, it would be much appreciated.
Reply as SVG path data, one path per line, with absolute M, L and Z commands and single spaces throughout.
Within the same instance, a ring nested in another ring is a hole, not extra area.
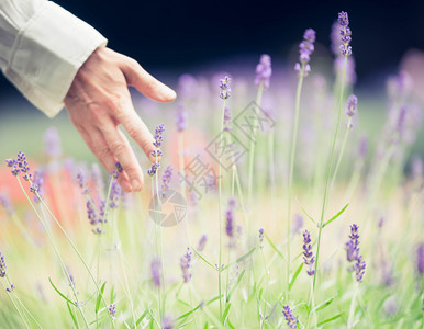
M 347 11 L 358 83 L 381 70 L 395 71 L 403 54 L 424 49 L 424 1 L 147 1 L 57 0 L 87 21 L 109 46 L 153 72 L 183 73 L 231 56 L 268 53 L 287 59 L 312 27 L 330 46 L 330 31 Z M 0 78 L 0 93 L 18 93 Z

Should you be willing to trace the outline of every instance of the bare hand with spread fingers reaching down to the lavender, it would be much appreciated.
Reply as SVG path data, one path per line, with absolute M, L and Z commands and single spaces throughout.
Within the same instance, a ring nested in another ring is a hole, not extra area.
M 176 93 L 147 73 L 134 59 L 100 47 L 78 70 L 65 98 L 72 124 L 88 147 L 112 172 L 119 161 L 123 168 L 118 181 L 125 192 L 140 191 L 143 171 L 120 124 L 152 162 L 153 136 L 135 113 L 127 86 L 146 97 L 170 102 Z

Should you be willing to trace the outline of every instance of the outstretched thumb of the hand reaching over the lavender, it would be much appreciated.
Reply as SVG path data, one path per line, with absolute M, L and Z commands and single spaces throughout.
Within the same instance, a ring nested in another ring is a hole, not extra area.
M 136 60 L 123 57 L 120 68 L 129 86 L 158 102 L 170 102 L 176 99 L 177 94 L 172 89 L 152 77 Z

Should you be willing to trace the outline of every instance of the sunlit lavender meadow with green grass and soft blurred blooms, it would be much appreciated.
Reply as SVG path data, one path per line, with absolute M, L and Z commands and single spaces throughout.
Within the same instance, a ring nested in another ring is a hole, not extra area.
M 422 328 L 422 104 L 401 71 L 384 122 L 366 122 L 339 29 L 334 78 L 314 72 L 306 30 L 291 73 L 263 56 L 255 81 L 187 75 L 175 112 L 145 104 L 165 132 L 160 167 L 140 155 L 141 193 L 121 192 L 119 166 L 67 158 L 54 128 L 36 162 L 10 154 L 0 327 Z M 185 217 L 159 226 L 172 191 Z

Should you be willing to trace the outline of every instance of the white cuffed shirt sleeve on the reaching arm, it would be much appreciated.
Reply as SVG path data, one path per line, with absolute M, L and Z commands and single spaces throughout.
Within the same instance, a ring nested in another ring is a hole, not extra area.
M 0 67 L 47 116 L 64 107 L 78 69 L 107 39 L 46 0 L 0 1 Z

